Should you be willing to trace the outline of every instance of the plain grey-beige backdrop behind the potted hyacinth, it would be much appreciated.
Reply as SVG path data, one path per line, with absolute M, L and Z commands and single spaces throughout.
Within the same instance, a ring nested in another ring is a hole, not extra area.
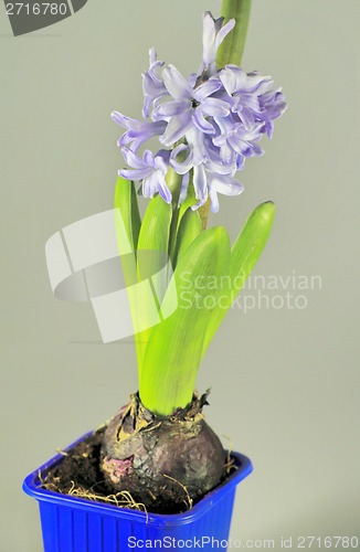
M 1 552 L 41 550 L 23 477 L 108 418 L 137 389 L 130 341 L 103 346 L 89 305 L 53 298 L 44 244 L 109 209 L 119 128 L 138 117 L 147 50 L 184 73 L 216 0 L 92 1 L 1 40 Z M 306 309 L 233 309 L 203 362 L 210 424 L 247 454 L 232 537 L 359 534 L 358 0 L 255 0 L 243 65 L 288 97 L 266 156 L 212 224 L 234 237 L 261 201 L 278 206 L 256 274 L 319 275 Z M 224 437 L 224 444 L 227 444 Z M 276 548 L 279 548 L 277 544 Z

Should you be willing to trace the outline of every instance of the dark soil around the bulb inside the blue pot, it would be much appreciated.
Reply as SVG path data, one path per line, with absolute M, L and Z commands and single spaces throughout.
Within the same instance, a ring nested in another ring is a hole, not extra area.
M 59 465 L 46 473 L 39 474 L 42 487 L 62 495 L 76 496 L 87 500 L 113 503 L 118 507 L 147 512 L 147 506 L 137 502 L 136 496 L 131 496 L 126 491 L 109 495 L 104 474 L 99 469 L 104 431 L 105 428 L 98 429 L 73 448 L 62 452 L 64 459 Z M 224 465 L 223 480 L 235 469 L 232 463 L 227 460 Z M 178 507 L 176 510 L 173 505 L 167 505 L 166 507 L 162 505 L 160 510 L 151 505 L 151 511 L 153 513 L 180 513 L 194 506 L 194 503 L 184 501 L 183 507 L 180 509 Z

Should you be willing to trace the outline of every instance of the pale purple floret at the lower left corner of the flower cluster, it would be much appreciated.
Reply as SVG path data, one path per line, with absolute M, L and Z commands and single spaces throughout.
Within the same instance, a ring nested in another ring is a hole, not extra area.
M 170 152 L 160 150 L 156 156 L 148 149 L 144 151 L 142 159 L 129 148 L 123 148 L 121 153 L 133 169 L 118 171 L 127 180 L 142 180 L 142 195 L 152 198 L 159 193 L 163 201 L 171 203 L 172 195 L 166 183 L 165 177 L 169 168 Z

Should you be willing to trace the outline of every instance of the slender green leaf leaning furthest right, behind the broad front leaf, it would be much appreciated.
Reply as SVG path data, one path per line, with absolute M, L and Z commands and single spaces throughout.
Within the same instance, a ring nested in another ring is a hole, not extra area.
M 246 278 L 255 267 L 271 234 L 275 216 L 275 204 L 271 201 L 258 205 L 248 216 L 231 250 L 229 282 L 221 290 L 221 301 L 213 310 L 203 343 L 203 353 L 209 347 L 225 314 L 232 306 Z

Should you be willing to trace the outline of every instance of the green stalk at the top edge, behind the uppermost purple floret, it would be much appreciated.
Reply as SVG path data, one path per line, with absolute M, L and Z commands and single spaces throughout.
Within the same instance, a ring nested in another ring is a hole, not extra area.
M 229 63 L 241 64 L 245 47 L 250 11 L 251 0 L 223 0 L 221 14 L 225 19 L 224 23 L 230 19 L 235 19 L 236 24 L 218 50 L 218 68 L 223 68 Z

